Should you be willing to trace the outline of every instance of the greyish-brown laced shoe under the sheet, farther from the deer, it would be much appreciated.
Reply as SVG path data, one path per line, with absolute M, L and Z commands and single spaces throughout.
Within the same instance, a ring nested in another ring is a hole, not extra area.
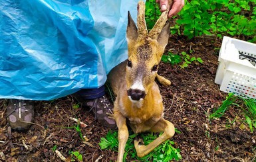
M 27 130 L 34 121 L 33 101 L 11 99 L 6 114 L 13 130 Z

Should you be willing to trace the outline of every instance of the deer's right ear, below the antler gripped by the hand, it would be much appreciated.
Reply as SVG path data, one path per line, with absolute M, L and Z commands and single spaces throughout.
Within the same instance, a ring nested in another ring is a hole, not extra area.
M 166 24 L 164 25 L 164 28 L 162 28 L 162 31 L 158 35 L 158 43 L 163 48 L 166 48 L 166 45 L 168 44 L 170 36 L 170 21 L 166 21 Z

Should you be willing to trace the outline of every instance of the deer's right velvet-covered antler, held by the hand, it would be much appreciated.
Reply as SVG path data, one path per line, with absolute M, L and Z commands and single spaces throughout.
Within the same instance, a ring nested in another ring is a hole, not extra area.
M 158 38 L 158 35 L 160 34 L 160 32 L 162 31 L 162 28 L 164 27 L 164 25 L 166 24 L 166 21 L 168 20 L 168 13 L 171 9 L 171 4 L 172 4 L 172 0 L 168 0 L 168 7 L 166 9 L 166 11 L 164 11 L 162 13 L 162 15 L 160 16 L 160 18 L 156 21 L 156 24 L 154 25 L 154 27 L 152 28 L 152 30 L 150 30 L 149 36 L 150 38 L 152 38 L 153 40 Z

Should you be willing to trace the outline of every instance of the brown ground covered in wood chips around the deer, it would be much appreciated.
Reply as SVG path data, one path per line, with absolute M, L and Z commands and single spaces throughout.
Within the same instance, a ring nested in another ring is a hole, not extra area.
M 185 69 L 161 63 L 158 71 L 172 81 L 170 87 L 160 85 L 160 91 L 165 118 L 181 132 L 172 138 L 174 147 L 181 150 L 181 161 L 255 161 L 256 133 L 250 132 L 241 110 L 231 106 L 222 118 L 208 118 L 227 96 L 214 83 L 220 46 L 221 40 L 215 38 L 187 40 L 172 36 L 166 47 L 174 54 L 193 51 L 190 56 L 203 60 Z M 101 150 L 98 145 L 110 129 L 96 122 L 83 106 L 74 108 L 77 104 L 72 95 L 55 101 L 37 101 L 35 124 L 27 132 L 11 132 L 4 116 L 7 100 L 1 99 L 0 161 L 61 161 L 53 152 L 55 147 L 64 157 L 70 151 L 79 151 L 84 161 L 96 161 L 100 155 L 104 156 L 99 161 L 115 161 L 116 152 Z M 74 129 L 76 122 L 69 117 L 88 124 L 81 127 L 87 142 L 80 140 Z M 243 129 L 241 124 L 245 124 Z

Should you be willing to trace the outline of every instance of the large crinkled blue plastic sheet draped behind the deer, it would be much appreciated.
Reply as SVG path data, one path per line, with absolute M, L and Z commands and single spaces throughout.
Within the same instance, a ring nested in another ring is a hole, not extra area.
M 104 85 L 127 58 L 138 0 L 0 1 L 0 98 L 53 100 Z

